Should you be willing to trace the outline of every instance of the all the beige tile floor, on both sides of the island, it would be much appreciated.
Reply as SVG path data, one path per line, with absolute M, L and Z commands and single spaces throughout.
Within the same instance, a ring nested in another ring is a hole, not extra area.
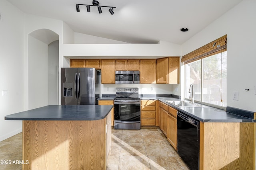
M 11 164 L 4 164 L 11 160 Z M 0 170 L 22 170 L 22 133 L 0 142 Z M 1 164 L 2 163 L 2 164 Z M 112 129 L 107 170 L 189 170 L 158 128 Z

